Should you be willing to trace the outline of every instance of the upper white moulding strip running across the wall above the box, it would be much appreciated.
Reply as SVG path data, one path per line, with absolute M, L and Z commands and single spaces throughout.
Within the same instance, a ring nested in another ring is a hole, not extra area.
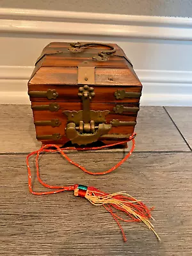
M 192 40 L 191 18 L 0 8 L 0 31 Z

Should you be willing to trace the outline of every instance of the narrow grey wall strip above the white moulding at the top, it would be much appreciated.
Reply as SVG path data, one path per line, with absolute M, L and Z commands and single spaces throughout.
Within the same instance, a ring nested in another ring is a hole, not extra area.
M 0 7 L 192 17 L 191 0 L 0 0 Z

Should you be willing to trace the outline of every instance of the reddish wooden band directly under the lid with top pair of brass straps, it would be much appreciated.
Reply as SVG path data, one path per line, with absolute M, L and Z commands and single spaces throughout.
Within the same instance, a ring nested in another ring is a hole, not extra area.
M 29 85 L 32 102 L 79 102 L 81 86 Z M 93 86 L 95 96 L 92 102 L 140 102 L 140 86 Z

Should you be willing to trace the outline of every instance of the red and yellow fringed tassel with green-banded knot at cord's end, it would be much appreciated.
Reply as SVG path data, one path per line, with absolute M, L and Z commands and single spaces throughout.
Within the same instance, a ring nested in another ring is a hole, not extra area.
M 124 241 L 127 241 L 127 239 L 125 237 L 124 230 L 120 225 L 120 220 L 125 222 L 137 221 L 145 223 L 145 225 L 147 225 L 147 227 L 154 232 L 157 239 L 161 241 L 160 237 L 154 230 L 154 226 L 149 220 L 152 218 L 150 214 L 152 209 L 148 209 L 148 207 L 140 200 L 136 200 L 134 197 L 125 193 L 124 191 L 107 194 L 97 188 L 77 185 L 74 189 L 74 195 L 86 198 L 93 205 L 102 205 L 108 212 L 110 212 L 122 231 Z M 118 214 L 113 212 L 112 207 L 127 214 L 129 219 L 121 218 Z

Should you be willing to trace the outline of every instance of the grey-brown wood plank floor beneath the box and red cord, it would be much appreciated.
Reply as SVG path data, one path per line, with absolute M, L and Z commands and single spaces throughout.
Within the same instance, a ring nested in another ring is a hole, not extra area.
M 136 125 L 136 150 L 105 176 L 83 173 L 58 154 L 40 158 L 49 184 L 84 184 L 113 193 L 127 191 L 155 207 L 161 237 L 142 223 L 122 223 L 127 242 L 111 214 L 72 193 L 35 196 L 28 191 L 26 155 L 40 147 L 30 106 L 0 105 L 1 255 L 192 255 L 192 108 L 143 107 Z M 107 170 L 126 150 L 70 152 L 89 170 Z M 33 174 L 34 158 L 31 159 Z M 44 190 L 35 175 L 34 187 Z

